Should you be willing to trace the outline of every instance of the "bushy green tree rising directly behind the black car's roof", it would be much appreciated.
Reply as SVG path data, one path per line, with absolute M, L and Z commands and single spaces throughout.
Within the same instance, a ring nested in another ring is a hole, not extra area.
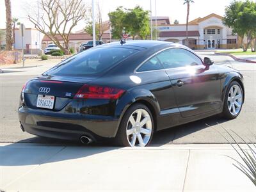
M 131 35 L 133 40 L 136 36 L 146 39 L 150 35 L 148 11 L 143 10 L 141 6 L 133 9 L 118 7 L 108 15 L 113 38 L 122 38 L 123 33 Z

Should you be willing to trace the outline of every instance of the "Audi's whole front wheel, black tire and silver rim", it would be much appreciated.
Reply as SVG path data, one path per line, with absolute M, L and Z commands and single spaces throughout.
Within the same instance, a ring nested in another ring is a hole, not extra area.
M 243 89 L 237 81 L 228 86 L 224 102 L 222 115 L 229 119 L 236 118 L 243 106 Z

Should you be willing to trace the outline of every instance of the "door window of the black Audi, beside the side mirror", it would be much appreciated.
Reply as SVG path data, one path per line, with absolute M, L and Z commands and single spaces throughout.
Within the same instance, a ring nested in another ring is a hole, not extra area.
M 192 52 L 186 49 L 173 48 L 163 51 L 157 55 L 164 68 L 187 67 L 202 65 L 202 61 Z

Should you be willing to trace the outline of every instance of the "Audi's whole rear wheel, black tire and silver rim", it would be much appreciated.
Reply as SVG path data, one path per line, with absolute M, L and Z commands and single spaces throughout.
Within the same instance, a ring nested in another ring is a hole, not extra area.
M 143 104 L 134 104 L 127 109 L 116 141 L 125 147 L 145 147 L 153 136 L 154 120 L 150 110 Z

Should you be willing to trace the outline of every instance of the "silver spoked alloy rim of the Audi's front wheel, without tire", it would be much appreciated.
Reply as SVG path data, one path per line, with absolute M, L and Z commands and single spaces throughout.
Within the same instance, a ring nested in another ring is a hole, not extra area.
M 240 112 L 243 104 L 243 93 L 241 88 L 234 84 L 228 92 L 228 110 L 232 115 L 237 115 Z

